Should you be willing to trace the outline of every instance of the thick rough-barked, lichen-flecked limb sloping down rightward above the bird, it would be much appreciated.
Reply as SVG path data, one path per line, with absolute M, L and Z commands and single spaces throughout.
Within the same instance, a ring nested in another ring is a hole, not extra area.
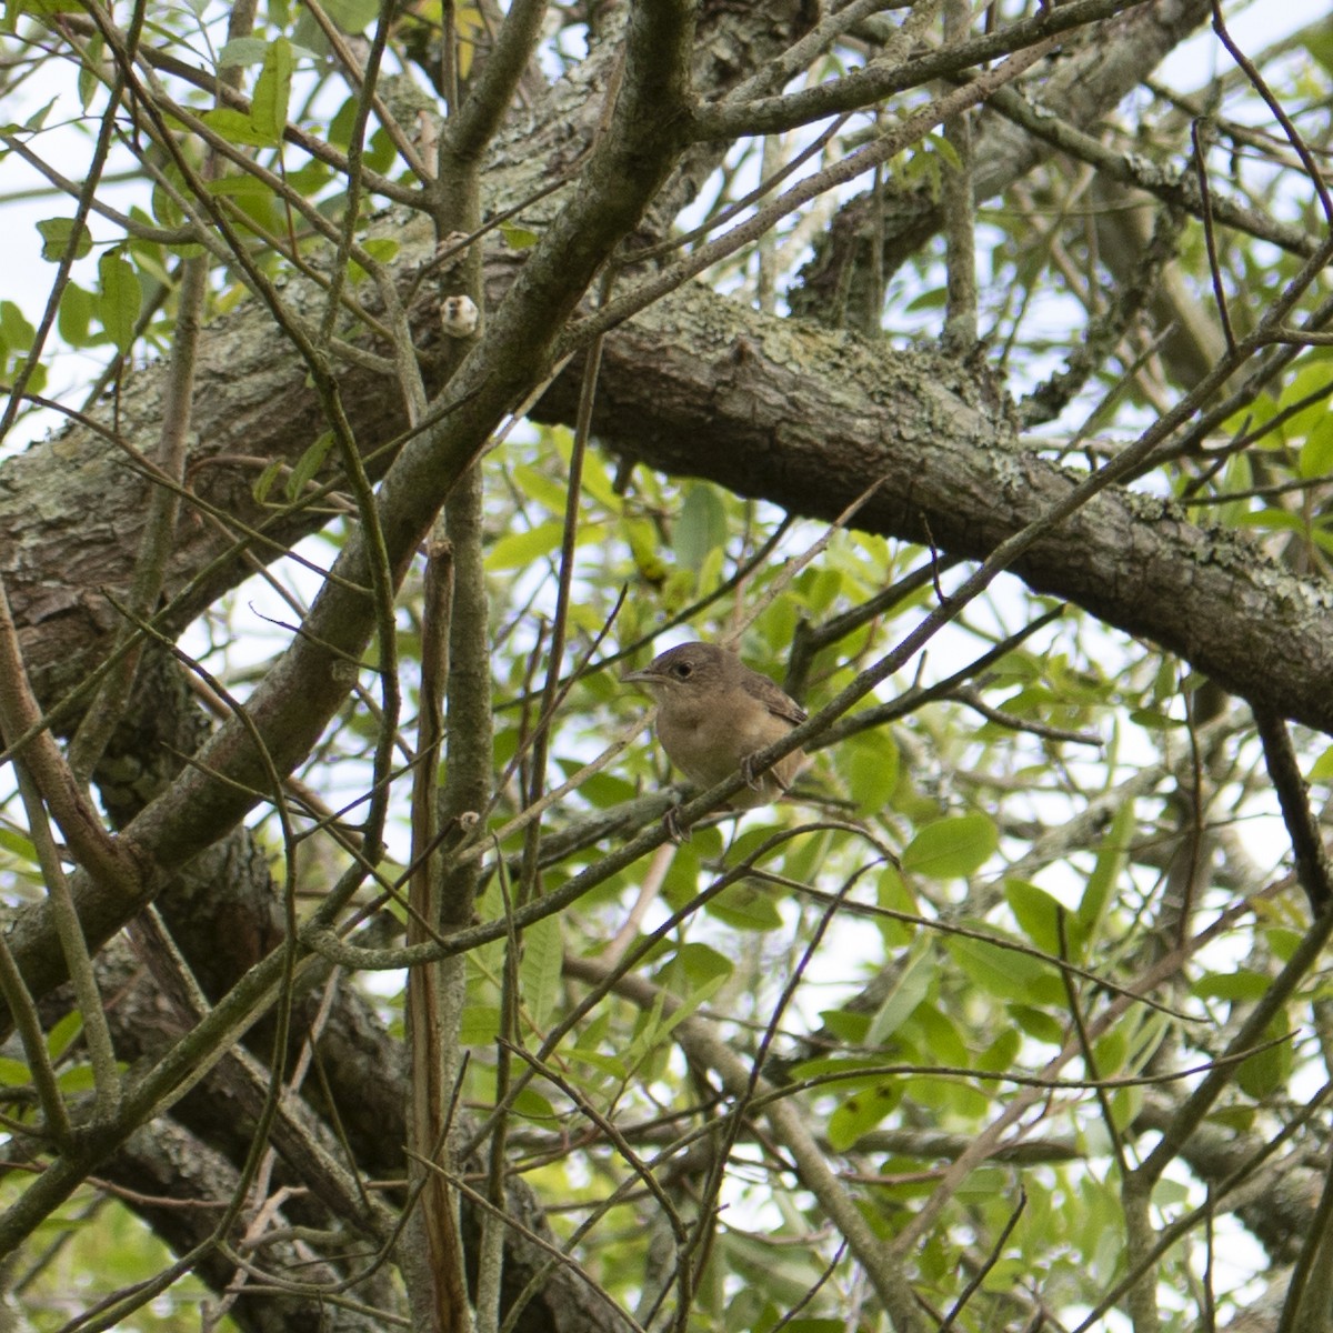
M 595 427 L 613 448 L 824 521 L 866 477 L 884 477 L 857 525 L 950 556 L 984 559 L 1080 480 L 1017 445 L 982 375 L 700 289 L 608 339 L 603 376 Z M 559 383 L 539 415 L 571 420 L 572 392 Z M 1156 497 L 1108 491 L 1013 568 L 1034 591 L 1152 639 L 1228 689 L 1333 730 L 1326 589 L 1246 539 L 1200 528 Z

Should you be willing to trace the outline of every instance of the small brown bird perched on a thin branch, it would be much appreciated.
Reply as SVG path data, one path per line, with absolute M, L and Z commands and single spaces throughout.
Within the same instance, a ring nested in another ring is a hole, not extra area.
M 624 677 L 657 704 L 657 738 L 666 757 L 698 788 L 714 786 L 740 769 L 749 789 L 730 798 L 737 809 L 776 801 L 796 780 L 801 750 L 753 773 L 750 756 L 785 736 L 805 710 L 766 676 L 750 670 L 717 644 L 681 644 Z

